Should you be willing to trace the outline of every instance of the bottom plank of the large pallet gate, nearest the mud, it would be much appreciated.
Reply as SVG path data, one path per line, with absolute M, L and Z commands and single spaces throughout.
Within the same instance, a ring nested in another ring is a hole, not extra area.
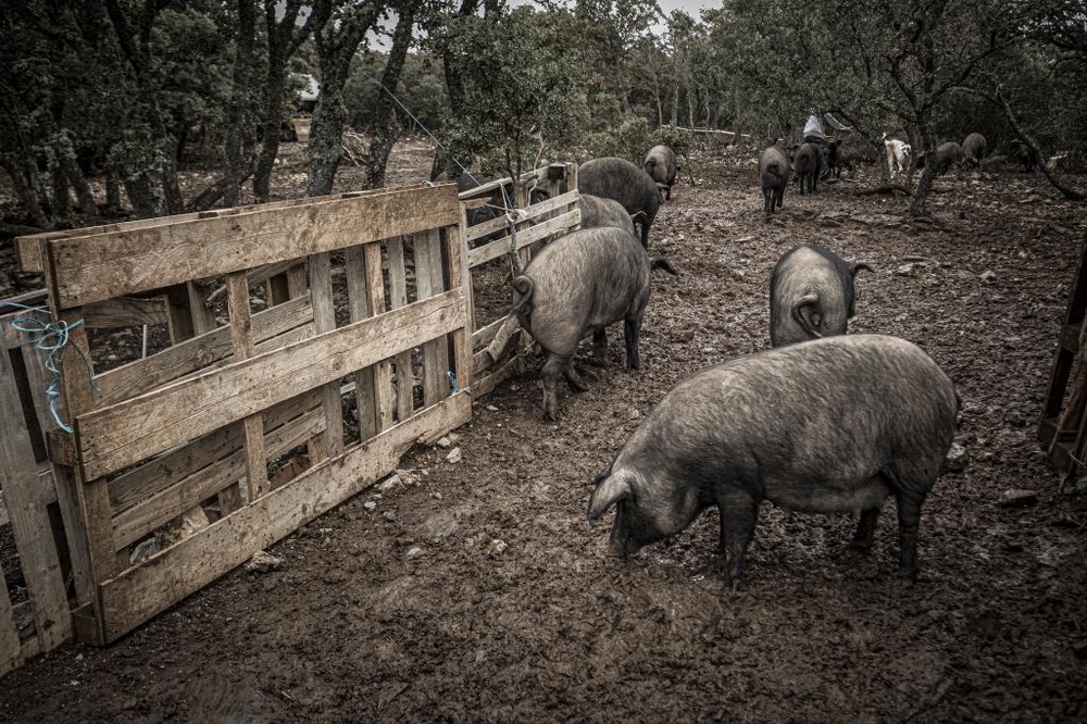
M 105 639 L 115 640 L 199 590 L 396 467 L 421 437 L 433 441 L 471 417 L 467 395 L 455 395 L 399 423 L 340 458 L 309 469 L 197 535 L 125 571 L 100 587 Z M 243 541 L 239 545 L 239 541 Z

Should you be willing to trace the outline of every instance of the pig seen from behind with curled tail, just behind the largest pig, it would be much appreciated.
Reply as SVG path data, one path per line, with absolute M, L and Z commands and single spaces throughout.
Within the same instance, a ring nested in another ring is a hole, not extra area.
M 770 276 L 770 340 L 783 347 L 844 335 L 855 313 L 853 280 L 860 262 L 847 264 L 829 249 L 802 244 L 786 251 Z

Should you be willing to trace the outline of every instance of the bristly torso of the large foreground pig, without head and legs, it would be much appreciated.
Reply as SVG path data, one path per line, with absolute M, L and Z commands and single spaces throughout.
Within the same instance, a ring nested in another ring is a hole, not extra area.
M 688 377 L 613 466 L 659 471 L 651 475 L 686 485 L 739 486 L 783 504 L 804 497 L 798 488 L 845 495 L 877 474 L 892 488 L 927 492 L 957 413 L 951 380 L 913 344 L 829 337 Z

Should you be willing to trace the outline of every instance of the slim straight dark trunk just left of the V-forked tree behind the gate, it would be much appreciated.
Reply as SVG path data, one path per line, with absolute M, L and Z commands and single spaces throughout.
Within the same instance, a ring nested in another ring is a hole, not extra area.
M 252 122 L 249 110 L 253 76 L 253 36 L 257 30 L 257 7 L 254 0 L 237 0 L 238 37 L 234 57 L 234 87 L 226 114 L 226 177 L 229 179 L 223 194 L 227 207 L 238 205 L 241 192 L 242 168 L 248 165 L 247 150 L 252 138 Z

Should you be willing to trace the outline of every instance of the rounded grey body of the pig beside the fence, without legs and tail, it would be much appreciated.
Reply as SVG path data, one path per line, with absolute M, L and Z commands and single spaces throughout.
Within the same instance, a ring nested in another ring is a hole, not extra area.
M 649 255 L 613 226 L 572 232 L 525 269 L 533 280 L 530 332 L 549 352 L 572 354 L 590 330 L 640 310 L 649 299 Z

